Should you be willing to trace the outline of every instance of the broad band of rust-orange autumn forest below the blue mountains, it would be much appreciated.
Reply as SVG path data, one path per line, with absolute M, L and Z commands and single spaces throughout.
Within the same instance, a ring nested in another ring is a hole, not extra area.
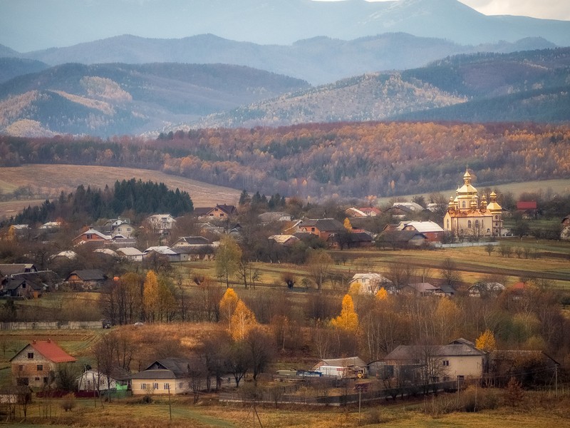
M 0 137 L 0 166 L 130 166 L 268 195 L 364 198 L 570 178 L 570 126 L 320 123 L 177 131 L 156 141 Z

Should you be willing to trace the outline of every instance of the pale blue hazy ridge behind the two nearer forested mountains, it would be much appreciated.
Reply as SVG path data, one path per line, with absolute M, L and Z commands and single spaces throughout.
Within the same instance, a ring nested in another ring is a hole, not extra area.
M 381 34 L 351 41 L 316 37 L 291 46 L 278 46 L 231 41 L 204 34 L 168 40 L 117 36 L 31 54 L 12 51 L 8 56 L 40 61 L 50 66 L 63 63 L 229 63 L 301 78 L 318 85 L 362 73 L 417 68 L 456 54 L 554 47 L 554 44 L 541 38 L 465 46 L 405 33 Z M 0 49 L 0 56 L 2 51 Z M 30 63 L 29 66 L 31 71 L 38 71 L 37 63 Z M 20 68 L 18 70 L 21 71 Z M 6 73 L 0 73 L 0 78 L 2 74 Z

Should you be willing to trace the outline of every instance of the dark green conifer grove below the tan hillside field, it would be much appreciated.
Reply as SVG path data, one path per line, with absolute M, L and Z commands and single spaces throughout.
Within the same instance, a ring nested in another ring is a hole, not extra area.
M 164 183 L 142 180 L 116 181 L 114 188 L 92 189 L 78 186 L 75 193 L 61 193 L 57 200 L 46 200 L 41 206 L 28 207 L 16 215 L 15 223 L 45 223 L 53 218 L 83 218 L 86 223 L 99 218 L 118 218 L 129 211 L 133 215 L 169 213 L 173 216 L 194 210 L 187 192 L 170 190 Z

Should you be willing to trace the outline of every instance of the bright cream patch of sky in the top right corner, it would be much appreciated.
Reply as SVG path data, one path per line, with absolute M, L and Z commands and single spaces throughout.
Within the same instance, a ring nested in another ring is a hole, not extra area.
M 317 0 L 338 1 L 338 0 Z M 368 0 L 390 1 L 390 0 Z M 570 21 L 570 0 L 459 0 L 485 15 L 519 15 Z

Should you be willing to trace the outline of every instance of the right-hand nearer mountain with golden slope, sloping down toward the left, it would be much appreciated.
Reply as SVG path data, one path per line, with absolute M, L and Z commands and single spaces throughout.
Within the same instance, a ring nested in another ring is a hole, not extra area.
M 402 72 L 368 73 L 241 106 L 193 125 L 335 121 L 570 120 L 570 48 L 471 54 Z

